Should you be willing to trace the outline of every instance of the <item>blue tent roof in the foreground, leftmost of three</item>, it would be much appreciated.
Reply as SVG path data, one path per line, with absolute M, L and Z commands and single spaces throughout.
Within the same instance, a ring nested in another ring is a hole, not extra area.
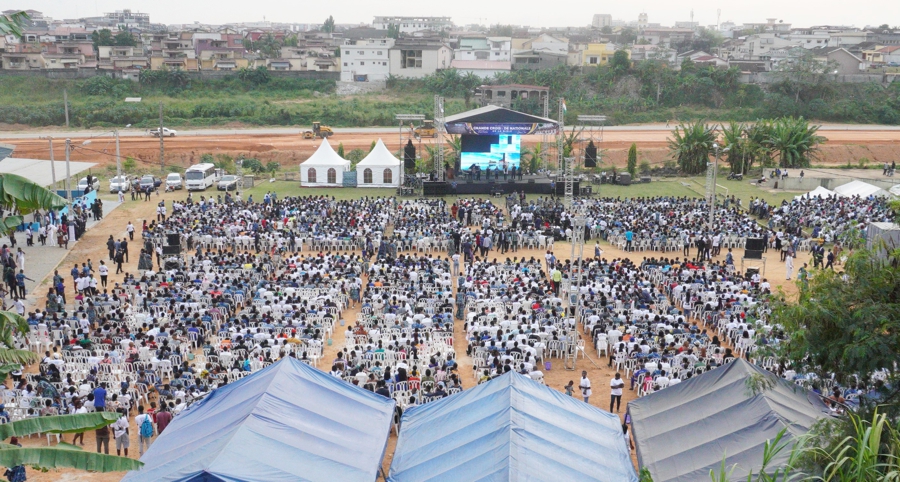
M 285 358 L 176 417 L 123 480 L 372 482 L 393 413 L 393 400 Z

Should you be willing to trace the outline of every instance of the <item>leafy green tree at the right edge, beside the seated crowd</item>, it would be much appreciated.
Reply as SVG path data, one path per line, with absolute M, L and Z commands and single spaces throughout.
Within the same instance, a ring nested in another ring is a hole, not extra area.
M 822 380 L 833 376 L 844 386 L 881 374 L 882 382 L 870 387 L 878 396 L 860 397 L 861 410 L 872 410 L 877 404 L 896 420 L 900 375 L 891 367 L 900 359 L 897 280 L 898 249 L 857 250 L 847 259 L 843 273 L 814 271 L 799 283 L 796 302 L 783 296 L 772 302 L 772 326 L 781 326 L 785 335 L 775 354 L 798 371 L 815 373 Z

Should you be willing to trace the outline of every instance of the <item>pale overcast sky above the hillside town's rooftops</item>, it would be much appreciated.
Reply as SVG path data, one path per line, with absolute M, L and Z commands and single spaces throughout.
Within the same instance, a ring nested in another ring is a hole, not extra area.
M 97 16 L 123 8 L 149 13 L 154 23 L 221 24 L 261 21 L 321 23 L 328 15 L 335 22 L 371 23 L 375 15 L 450 16 L 457 25 L 469 23 L 514 24 L 533 27 L 584 26 L 595 13 L 609 13 L 615 19 L 636 20 L 647 12 L 651 23 L 674 24 L 690 20 L 701 25 L 714 25 L 716 11 L 721 20 L 764 22 L 777 18 L 794 26 L 851 25 L 864 27 L 889 23 L 900 24 L 897 0 L 871 0 L 855 4 L 839 0 L 756 0 L 745 2 L 721 0 L 636 0 L 611 5 L 612 2 L 569 0 L 560 4 L 546 0 L 518 2 L 456 0 L 423 2 L 399 0 L 12 0 L 3 9 L 21 8 L 44 12 L 54 19 Z M 604 5 L 605 4 L 605 5 Z M 564 8 L 556 8 L 564 6 Z M 549 8 L 548 8 L 549 7 Z

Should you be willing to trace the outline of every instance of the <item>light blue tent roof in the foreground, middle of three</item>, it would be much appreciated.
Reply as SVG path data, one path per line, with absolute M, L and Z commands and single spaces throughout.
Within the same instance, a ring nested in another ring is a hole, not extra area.
M 619 417 L 507 373 L 410 408 L 388 481 L 637 481 Z

